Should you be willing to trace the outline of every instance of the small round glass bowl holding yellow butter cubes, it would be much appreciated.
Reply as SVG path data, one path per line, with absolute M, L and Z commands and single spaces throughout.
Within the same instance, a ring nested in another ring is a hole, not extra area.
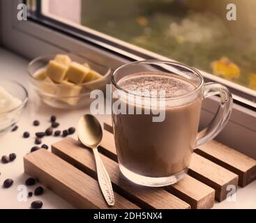
M 90 99 L 90 93 L 92 90 L 100 89 L 101 91 L 105 92 L 105 85 L 110 83 L 111 69 L 107 66 L 95 63 L 90 59 L 86 59 L 84 56 L 75 54 L 66 55 L 68 55 L 72 61 L 77 63 L 88 63 L 91 69 L 100 73 L 100 75 L 103 75 L 103 77 L 92 82 L 76 84 L 76 86 L 81 87 L 79 94 L 60 95 L 58 92 L 60 92 L 61 89 L 67 87 L 65 84 L 45 83 L 42 80 L 38 80 L 34 77 L 38 70 L 46 68 L 49 61 L 54 59 L 56 56 L 56 54 L 54 54 L 49 56 L 40 56 L 36 59 L 33 59 L 33 61 L 29 63 L 27 68 L 29 81 L 43 102 L 45 102 L 47 105 L 50 105 L 51 107 L 59 109 L 76 109 L 89 105 L 89 102 L 92 101 Z M 75 103 L 70 103 L 74 101 Z

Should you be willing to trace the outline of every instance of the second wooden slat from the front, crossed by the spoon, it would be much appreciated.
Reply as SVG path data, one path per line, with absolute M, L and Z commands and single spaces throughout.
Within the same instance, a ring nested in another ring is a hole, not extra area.
M 52 145 L 52 153 L 73 164 L 84 173 L 96 178 L 96 164 L 90 148 L 84 148 L 75 139 L 66 138 Z M 119 165 L 105 155 L 100 155 L 114 189 L 124 197 L 139 203 L 142 208 L 190 208 L 188 203 L 160 187 L 141 187 L 130 183 L 119 171 Z

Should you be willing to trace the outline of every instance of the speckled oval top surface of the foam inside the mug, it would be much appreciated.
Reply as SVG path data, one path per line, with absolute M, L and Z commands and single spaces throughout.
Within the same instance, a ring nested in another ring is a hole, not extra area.
M 165 73 L 144 72 L 128 75 L 118 82 L 119 86 L 126 91 L 137 91 L 144 95 L 145 91 L 159 93 L 165 91 L 166 96 L 180 96 L 195 90 L 195 85 Z

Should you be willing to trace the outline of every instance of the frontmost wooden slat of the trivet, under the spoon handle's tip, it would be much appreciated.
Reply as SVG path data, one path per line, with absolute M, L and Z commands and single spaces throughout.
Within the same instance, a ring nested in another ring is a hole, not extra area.
M 95 179 L 45 149 L 24 157 L 24 171 L 77 208 L 110 208 Z M 139 208 L 119 194 L 114 197 L 112 208 Z

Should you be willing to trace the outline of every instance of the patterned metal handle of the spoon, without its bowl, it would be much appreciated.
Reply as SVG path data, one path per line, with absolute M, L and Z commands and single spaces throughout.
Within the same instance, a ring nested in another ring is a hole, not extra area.
M 103 192 L 103 196 L 105 197 L 107 204 L 109 206 L 114 206 L 114 192 L 112 189 L 110 176 L 107 174 L 107 170 L 105 169 L 104 164 L 100 159 L 97 148 L 93 148 L 93 154 L 96 160 L 98 183 L 100 184 L 100 189 Z

